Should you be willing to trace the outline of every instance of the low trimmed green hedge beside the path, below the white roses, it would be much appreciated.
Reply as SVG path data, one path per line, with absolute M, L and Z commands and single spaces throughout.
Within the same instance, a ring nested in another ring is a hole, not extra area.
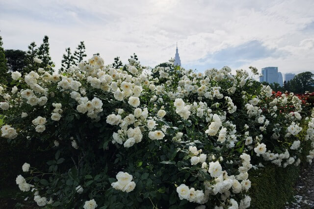
M 301 133 L 299 138 L 305 137 Z M 304 139 L 303 139 L 304 140 Z M 294 185 L 299 179 L 301 169 L 308 165 L 306 156 L 311 150 L 311 141 L 303 143 L 301 164 L 299 166 L 288 165 L 281 168 L 273 164 L 265 164 L 264 168 L 251 169 L 249 177 L 251 188 L 251 209 L 282 209 L 286 202 L 293 201 Z

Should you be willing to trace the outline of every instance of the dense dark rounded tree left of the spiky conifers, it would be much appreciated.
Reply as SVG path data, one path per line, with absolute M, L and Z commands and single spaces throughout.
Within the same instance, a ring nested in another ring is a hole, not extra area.
M 23 72 L 26 67 L 26 52 L 22 50 L 5 50 L 6 64 L 9 71 Z

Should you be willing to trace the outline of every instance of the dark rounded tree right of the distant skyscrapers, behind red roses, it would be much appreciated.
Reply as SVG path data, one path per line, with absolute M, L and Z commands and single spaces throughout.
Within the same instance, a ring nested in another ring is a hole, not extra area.
M 305 91 L 313 90 L 314 74 L 311 72 L 299 73 L 293 79 L 289 80 L 291 91 L 304 94 Z

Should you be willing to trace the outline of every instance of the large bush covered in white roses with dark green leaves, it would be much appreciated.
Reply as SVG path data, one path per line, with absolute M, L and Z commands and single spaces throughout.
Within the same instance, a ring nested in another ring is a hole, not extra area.
M 46 170 L 21 165 L 16 183 L 47 208 L 248 208 L 248 171 L 298 166 L 314 140 L 314 111 L 250 69 L 151 73 L 94 55 L 59 74 L 13 72 L 15 86 L 0 87 L 1 136 L 55 151 Z

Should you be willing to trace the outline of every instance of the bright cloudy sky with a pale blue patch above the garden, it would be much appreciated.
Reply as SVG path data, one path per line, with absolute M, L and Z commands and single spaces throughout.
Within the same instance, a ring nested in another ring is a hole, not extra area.
M 278 66 L 314 71 L 314 0 L 0 0 L 5 49 L 40 45 L 44 35 L 60 67 L 79 41 L 88 56 L 123 62 L 135 52 L 154 67 L 175 55 L 183 67 Z

